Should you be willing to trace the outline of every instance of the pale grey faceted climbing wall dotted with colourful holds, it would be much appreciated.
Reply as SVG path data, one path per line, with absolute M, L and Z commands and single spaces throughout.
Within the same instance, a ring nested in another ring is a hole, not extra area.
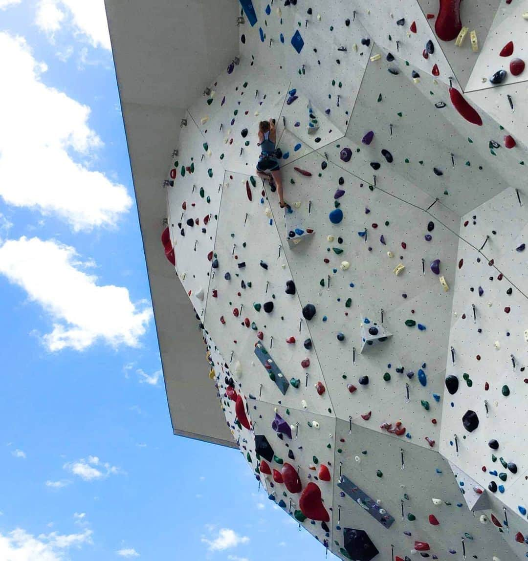
M 240 54 L 181 123 L 162 241 L 219 406 L 338 558 L 526 558 L 527 20 L 240 0 Z

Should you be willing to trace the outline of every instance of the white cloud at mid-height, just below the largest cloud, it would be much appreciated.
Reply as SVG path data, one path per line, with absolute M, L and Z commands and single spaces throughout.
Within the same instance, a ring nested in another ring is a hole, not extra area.
M 56 241 L 22 237 L 0 246 L 0 273 L 52 316 L 53 330 L 43 338 L 50 351 L 81 351 L 98 340 L 139 346 L 150 306 L 133 304 L 124 287 L 97 284 L 97 277 L 80 270 L 83 265 L 73 247 Z

